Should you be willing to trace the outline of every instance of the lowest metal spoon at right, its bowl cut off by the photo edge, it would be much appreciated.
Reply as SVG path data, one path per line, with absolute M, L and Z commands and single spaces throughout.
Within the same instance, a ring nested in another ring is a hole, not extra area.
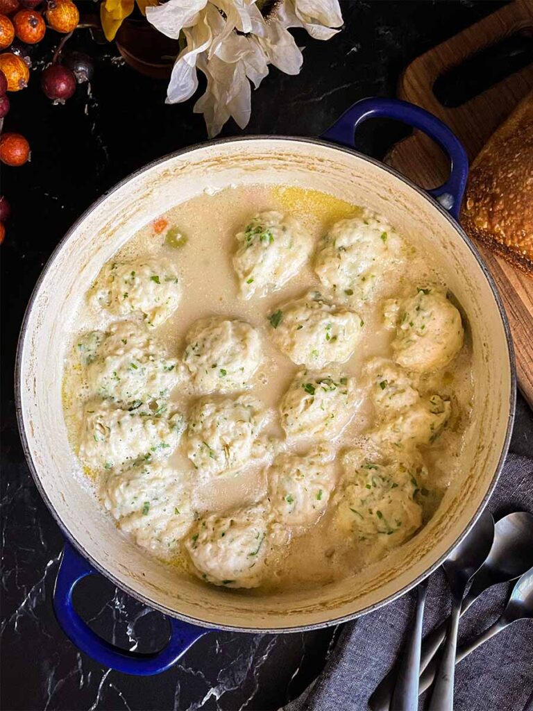
M 533 518 L 533 517 L 532 517 Z M 531 545 L 531 544 L 530 544 Z M 533 545 L 532 545 L 533 547 Z M 499 619 L 495 621 L 488 629 L 483 632 L 478 638 L 468 644 L 463 645 L 457 651 L 456 664 L 473 652 L 481 644 L 486 642 L 491 637 L 500 633 L 507 626 L 521 619 L 530 619 L 533 617 L 533 568 L 529 568 L 524 572 L 522 577 L 515 585 L 509 602 Z M 424 674 L 420 678 L 419 693 L 423 693 L 431 686 L 436 672 L 436 664 L 434 661 L 428 665 Z M 393 708 L 395 708 L 393 706 Z

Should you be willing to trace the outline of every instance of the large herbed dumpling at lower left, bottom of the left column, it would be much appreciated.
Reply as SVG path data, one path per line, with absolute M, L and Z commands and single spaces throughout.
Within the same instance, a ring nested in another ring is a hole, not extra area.
M 119 528 L 163 557 L 176 553 L 193 525 L 190 482 L 161 462 L 111 472 L 100 493 Z

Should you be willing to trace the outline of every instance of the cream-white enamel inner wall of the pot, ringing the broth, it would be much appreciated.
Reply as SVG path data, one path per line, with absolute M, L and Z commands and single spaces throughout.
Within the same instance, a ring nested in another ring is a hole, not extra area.
M 63 353 L 74 316 L 102 264 L 143 225 L 206 188 L 280 183 L 332 193 L 387 216 L 438 261 L 470 326 L 476 415 L 463 477 L 436 515 L 392 557 L 320 589 L 250 596 L 208 586 L 158 563 L 115 528 L 80 474 L 63 422 Z M 147 604 L 212 626 L 289 629 L 353 616 L 434 567 L 475 518 L 505 449 L 512 364 L 492 288 L 471 247 L 424 194 L 357 154 L 291 139 L 210 144 L 129 178 L 89 210 L 53 256 L 28 313 L 19 352 L 23 432 L 48 506 L 82 552 Z

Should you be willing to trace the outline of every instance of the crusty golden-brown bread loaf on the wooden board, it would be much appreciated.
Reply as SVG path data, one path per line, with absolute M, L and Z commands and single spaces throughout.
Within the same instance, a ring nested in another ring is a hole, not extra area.
M 473 162 L 461 223 L 470 237 L 533 275 L 533 92 Z

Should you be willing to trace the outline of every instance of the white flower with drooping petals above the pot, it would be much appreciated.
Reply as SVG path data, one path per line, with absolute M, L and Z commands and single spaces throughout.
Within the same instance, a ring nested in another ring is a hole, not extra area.
M 298 74 L 303 57 L 291 27 L 316 39 L 329 39 L 343 23 L 338 0 L 284 0 L 264 18 L 256 0 L 168 0 L 146 8 L 154 27 L 173 39 L 184 38 L 168 84 L 167 102 L 189 99 L 198 89 L 197 70 L 208 80 L 196 102 L 210 137 L 230 117 L 239 127 L 249 122 L 252 82 L 257 89 L 273 64 Z

